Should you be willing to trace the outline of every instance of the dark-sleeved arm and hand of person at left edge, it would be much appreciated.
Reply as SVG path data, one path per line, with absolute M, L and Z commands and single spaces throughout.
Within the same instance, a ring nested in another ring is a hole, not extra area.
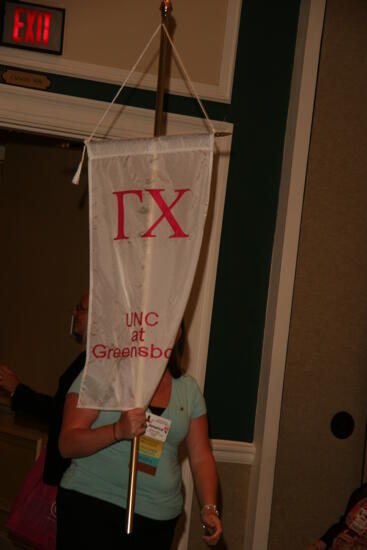
M 45 422 L 49 420 L 54 406 L 53 397 L 22 384 L 15 372 L 5 365 L 0 366 L 0 387 L 10 393 L 14 412 L 30 414 Z

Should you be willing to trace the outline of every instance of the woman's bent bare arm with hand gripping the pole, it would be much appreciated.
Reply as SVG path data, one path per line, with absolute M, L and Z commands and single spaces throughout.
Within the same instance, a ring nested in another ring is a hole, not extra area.
M 133 409 L 121 414 L 120 419 L 106 426 L 92 428 L 99 411 L 77 407 L 78 394 L 69 393 L 59 437 L 59 449 L 64 458 L 80 458 L 94 454 L 122 439 L 133 439 L 145 432 L 144 409 Z

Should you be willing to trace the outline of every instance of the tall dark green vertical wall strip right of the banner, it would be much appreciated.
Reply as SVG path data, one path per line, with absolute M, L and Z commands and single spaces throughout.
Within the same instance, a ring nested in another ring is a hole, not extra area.
M 244 1 L 205 396 L 212 437 L 252 441 L 299 2 Z

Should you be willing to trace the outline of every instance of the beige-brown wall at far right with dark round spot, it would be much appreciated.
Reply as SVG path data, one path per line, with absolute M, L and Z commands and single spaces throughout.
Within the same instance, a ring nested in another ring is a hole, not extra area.
M 329 0 L 284 381 L 270 550 L 306 548 L 361 480 L 367 391 L 367 4 Z M 355 430 L 332 435 L 335 413 Z

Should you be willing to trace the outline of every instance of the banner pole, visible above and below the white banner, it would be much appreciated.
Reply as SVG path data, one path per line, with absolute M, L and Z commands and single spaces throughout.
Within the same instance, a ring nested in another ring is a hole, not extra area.
M 166 24 L 172 11 L 171 0 L 163 0 L 161 3 L 161 15 L 162 24 Z M 157 79 L 157 93 L 155 104 L 155 120 L 154 120 L 154 136 L 160 136 L 163 132 L 163 103 L 165 92 L 165 80 L 166 80 L 166 68 L 167 68 L 167 50 L 168 39 L 161 28 L 161 42 L 159 49 L 159 66 L 158 66 L 158 79 Z M 130 455 L 130 476 L 129 487 L 127 495 L 127 510 L 126 510 L 126 530 L 125 532 L 130 535 L 133 531 L 133 519 L 135 508 L 135 491 L 136 491 L 136 475 L 138 471 L 138 451 L 139 451 L 139 437 L 134 437 L 131 443 L 131 455 Z

